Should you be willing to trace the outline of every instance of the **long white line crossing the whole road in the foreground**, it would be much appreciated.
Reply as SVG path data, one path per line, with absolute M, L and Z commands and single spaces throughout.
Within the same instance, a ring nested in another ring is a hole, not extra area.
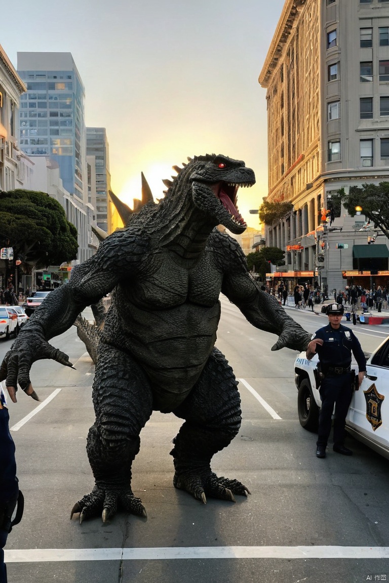
M 139 549 L 5 549 L 6 563 L 171 559 L 388 559 L 389 547 L 230 546 Z

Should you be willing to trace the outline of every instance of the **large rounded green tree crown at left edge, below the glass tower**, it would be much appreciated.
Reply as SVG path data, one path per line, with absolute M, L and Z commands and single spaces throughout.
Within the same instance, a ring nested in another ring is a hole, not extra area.
M 78 250 L 76 227 L 59 202 L 22 189 L 0 192 L 0 241 L 37 268 L 72 261 Z

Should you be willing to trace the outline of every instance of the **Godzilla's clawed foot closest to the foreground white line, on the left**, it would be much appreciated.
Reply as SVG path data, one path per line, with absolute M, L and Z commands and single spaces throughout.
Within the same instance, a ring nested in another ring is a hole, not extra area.
M 85 518 L 97 516 L 102 512 L 101 518 L 103 522 L 107 522 L 118 509 L 147 518 L 141 498 L 136 498 L 131 488 L 104 489 L 100 486 L 94 486 L 90 494 L 86 494 L 82 500 L 76 502 L 70 518 L 72 519 L 73 514 L 79 512 L 81 524 Z

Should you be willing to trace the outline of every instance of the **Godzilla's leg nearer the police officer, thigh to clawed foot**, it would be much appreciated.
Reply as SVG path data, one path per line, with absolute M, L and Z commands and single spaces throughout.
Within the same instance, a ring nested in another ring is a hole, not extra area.
M 233 494 L 247 496 L 246 486 L 211 471 L 213 454 L 232 441 L 241 422 L 237 381 L 218 349 L 213 349 L 191 394 L 174 413 L 185 419 L 170 452 L 176 469 L 174 486 L 204 503 L 205 496 L 232 501 Z

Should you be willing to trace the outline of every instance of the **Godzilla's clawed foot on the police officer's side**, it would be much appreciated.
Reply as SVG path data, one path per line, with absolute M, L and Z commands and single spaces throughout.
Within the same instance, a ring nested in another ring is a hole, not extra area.
M 180 490 L 186 490 L 197 500 L 206 504 L 206 496 L 230 500 L 235 502 L 234 494 L 247 496 L 250 490 L 238 480 L 229 480 L 227 477 L 218 477 L 209 470 L 206 473 L 184 472 L 174 474 L 173 485 Z

